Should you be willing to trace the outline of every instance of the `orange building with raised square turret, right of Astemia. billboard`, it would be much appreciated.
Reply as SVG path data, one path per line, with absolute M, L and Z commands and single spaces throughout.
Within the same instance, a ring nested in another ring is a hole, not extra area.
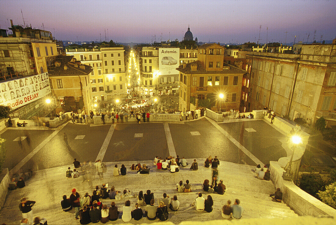
M 190 110 L 190 99 L 211 99 L 217 110 L 238 110 L 245 70 L 223 63 L 224 47 L 204 44 L 197 48 L 198 60 L 180 65 L 179 109 Z M 219 95 L 224 98 L 220 99 Z

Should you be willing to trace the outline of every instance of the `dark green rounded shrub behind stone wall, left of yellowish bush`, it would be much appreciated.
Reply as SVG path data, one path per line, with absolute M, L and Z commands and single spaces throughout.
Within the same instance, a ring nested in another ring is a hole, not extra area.
M 320 175 L 302 174 L 299 187 L 308 194 L 318 198 L 317 193 L 325 189 L 325 181 Z

